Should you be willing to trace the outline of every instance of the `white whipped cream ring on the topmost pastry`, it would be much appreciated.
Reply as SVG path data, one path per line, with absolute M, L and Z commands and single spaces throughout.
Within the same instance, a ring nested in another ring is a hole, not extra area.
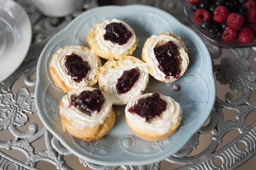
M 127 43 L 123 45 L 118 45 L 118 44 L 112 43 L 110 40 L 104 40 L 104 34 L 106 33 L 105 27 L 108 24 L 114 23 L 114 22 L 122 23 L 128 29 L 128 31 L 132 33 Z M 111 52 L 113 54 L 125 53 L 129 48 L 131 48 L 134 45 L 136 41 L 134 30 L 122 20 L 116 20 L 116 19 L 105 20 L 102 23 L 96 24 L 96 29 L 95 30 L 92 29 L 91 31 L 96 31 L 95 40 L 96 40 L 96 43 L 99 45 L 99 47 L 104 49 L 106 52 Z

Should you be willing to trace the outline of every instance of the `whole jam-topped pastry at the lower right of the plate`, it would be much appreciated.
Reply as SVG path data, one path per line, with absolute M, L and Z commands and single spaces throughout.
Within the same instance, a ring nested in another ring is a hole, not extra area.
M 130 99 L 125 118 L 139 138 L 158 141 L 174 134 L 180 125 L 182 110 L 178 102 L 163 94 L 142 94 Z

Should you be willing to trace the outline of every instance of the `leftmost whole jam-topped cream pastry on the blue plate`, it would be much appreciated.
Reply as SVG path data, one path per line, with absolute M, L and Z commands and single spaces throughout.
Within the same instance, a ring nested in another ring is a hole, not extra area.
M 99 56 L 90 48 L 69 45 L 55 52 L 50 73 L 55 84 L 67 93 L 73 89 L 96 85 L 101 66 Z

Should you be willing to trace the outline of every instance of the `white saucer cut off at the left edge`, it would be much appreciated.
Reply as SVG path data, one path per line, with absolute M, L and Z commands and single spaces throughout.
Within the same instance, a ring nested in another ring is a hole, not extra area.
M 23 62 L 32 40 L 24 9 L 12 0 L 0 0 L 0 82 Z

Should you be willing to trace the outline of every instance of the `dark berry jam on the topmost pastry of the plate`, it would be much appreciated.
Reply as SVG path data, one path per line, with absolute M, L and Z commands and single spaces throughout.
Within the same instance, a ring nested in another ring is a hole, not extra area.
M 132 33 L 122 23 L 110 23 L 105 27 L 104 40 L 123 45 L 130 39 Z

